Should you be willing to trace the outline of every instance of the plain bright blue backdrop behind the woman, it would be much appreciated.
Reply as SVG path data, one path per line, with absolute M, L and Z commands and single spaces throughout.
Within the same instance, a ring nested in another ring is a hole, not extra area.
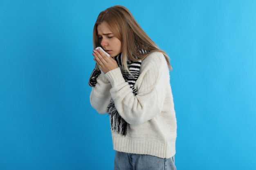
M 0 170 L 113 169 L 88 79 L 115 4 L 171 57 L 177 169 L 255 170 L 255 0 L 0 0 Z

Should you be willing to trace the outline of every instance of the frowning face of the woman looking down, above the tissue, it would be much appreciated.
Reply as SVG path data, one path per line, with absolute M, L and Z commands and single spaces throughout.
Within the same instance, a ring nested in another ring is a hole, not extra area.
M 121 41 L 110 31 L 106 22 L 97 26 L 98 38 L 104 51 L 111 57 L 115 57 L 122 52 Z

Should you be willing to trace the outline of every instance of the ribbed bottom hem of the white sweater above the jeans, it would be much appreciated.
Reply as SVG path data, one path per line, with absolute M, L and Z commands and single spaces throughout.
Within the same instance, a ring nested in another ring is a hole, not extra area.
M 149 140 L 132 140 L 126 137 L 112 137 L 113 149 L 119 152 L 153 155 L 170 158 L 175 155 L 175 139 L 168 143 L 157 143 Z

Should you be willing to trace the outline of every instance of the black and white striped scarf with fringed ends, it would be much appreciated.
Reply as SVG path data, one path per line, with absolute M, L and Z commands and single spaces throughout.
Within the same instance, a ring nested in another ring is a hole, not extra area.
M 140 49 L 140 53 L 148 53 L 148 51 Z M 135 55 L 133 55 L 137 59 Z M 115 61 L 117 62 L 118 66 L 122 66 L 122 53 L 119 55 L 113 57 Z M 131 61 L 129 58 L 127 58 L 127 65 L 129 68 L 129 71 L 131 74 L 128 72 L 124 71 L 123 77 L 126 82 L 130 85 L 130 88 L 132 89 L 133 95 L 137 95 L 137 89 L 134 87 L 135 82 L 137 81 L 139 77 L 139 70 L 141 66 L 142 60 L 139 61 Z M 96 68 L 92 71 L 92 74 L 90 75 L 89 79 L 89 85 L 92 87 L 95 87 L 97 84 L 97 78 L 101 74 L 101 71 L 97 71 Z M 111 98 L 110 99 L 110 104 L 108 105 L 108 114 L 110 115 L 110 128 L 115 132 L 117 131 L 121 135 L 126 136 L 129 133 L 129 124 L 119 115 L 117 108 L 115 107 L 114 100 Z

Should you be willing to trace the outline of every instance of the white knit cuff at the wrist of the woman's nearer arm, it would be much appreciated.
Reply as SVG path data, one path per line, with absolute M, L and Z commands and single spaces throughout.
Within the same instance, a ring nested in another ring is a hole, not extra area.
M 105 77 L 110 81 L 112 87 L 118 86 L 122 82 L 125 82 L 119 67 L 108 71 L 105 74 Z

